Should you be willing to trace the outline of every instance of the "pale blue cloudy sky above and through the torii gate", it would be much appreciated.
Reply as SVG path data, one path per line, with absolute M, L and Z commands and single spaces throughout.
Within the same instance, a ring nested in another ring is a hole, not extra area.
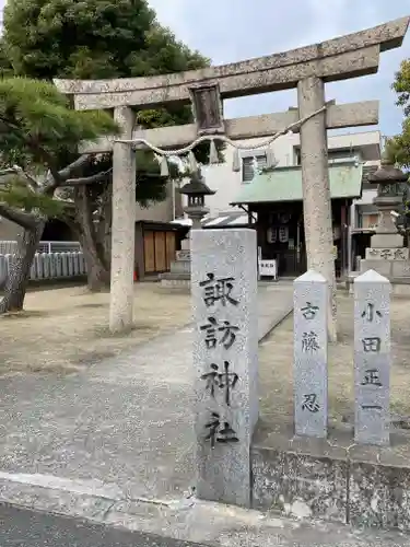
M 213 65 L 285 51 L 410 15 L 410 0 L 149 0 L 160 22 Z M 278 5 L 279 4 L 279 5 Z M 335 82 L 327 98 L 380 101 L 380 130 L 400 131 L 402 114 L 390 85 L 410 57 L 410 31 L 401 48 L 380 56 L 379 72 Z M 296 105 L 295 90 L 226 101 L 227 118 L 280 112 Z M 345 131 L 345 130 L 344 130 Z

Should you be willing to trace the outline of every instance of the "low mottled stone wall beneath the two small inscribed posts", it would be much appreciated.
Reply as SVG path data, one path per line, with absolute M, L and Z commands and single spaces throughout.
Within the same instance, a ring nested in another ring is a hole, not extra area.
M 352 428 L 329 440 L 294 438 L 262 421 L 251 447 L 253 505 L 296 517 L 410 531 L 410 438 L 356 445 Z

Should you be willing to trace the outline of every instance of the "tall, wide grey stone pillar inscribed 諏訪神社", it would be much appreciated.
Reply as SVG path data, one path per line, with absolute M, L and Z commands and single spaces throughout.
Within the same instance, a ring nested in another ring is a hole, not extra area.
M 258 420 L 255 230 L 194 230 L 191 238 L 197 494 L 250 504 Z

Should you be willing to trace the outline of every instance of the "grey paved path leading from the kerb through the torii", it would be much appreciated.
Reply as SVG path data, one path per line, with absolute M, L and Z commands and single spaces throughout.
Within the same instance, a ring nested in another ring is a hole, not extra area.
M 261 288 L 259 309 L 262 337 L 291 311 L 292 284 Z M 108 504 L 183 499 L 194 485 L 191 329 L 86 373 L 0 379 L 0 500 L 34 486 Z

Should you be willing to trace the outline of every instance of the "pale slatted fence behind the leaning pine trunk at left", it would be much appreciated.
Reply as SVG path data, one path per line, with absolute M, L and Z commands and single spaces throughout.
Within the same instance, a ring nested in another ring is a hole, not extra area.
M 0 255 L 0 281 L 8 278 L 14 255 Z M 30 279 L 62 279 L 85 276 L 86 267 L 83 253 L 36 253 Z

